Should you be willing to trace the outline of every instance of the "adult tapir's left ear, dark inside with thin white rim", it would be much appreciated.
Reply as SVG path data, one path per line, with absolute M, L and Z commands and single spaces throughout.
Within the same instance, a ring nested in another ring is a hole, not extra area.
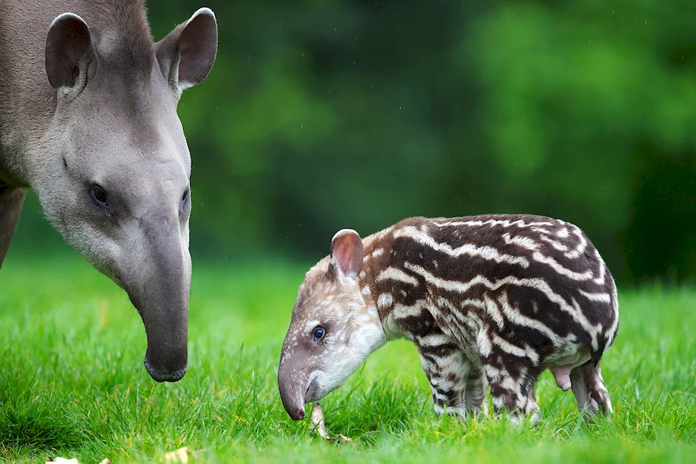
M 89 27 L 74 13 L 56 17 L 46 36 L 46 73 L 54 88 L 70 88 L 77 83 L 80 65 L 92 47 Z

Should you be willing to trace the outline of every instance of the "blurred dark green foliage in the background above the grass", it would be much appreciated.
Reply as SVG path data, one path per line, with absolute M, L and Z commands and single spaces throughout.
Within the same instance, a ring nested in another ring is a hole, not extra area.
M 219 54 L 180 103 L 194 259 L 514 212 L 576 223 L 622 282 L 696 276 L 693 0 L 205 4 Z M 155 38 L 199 6 L 150 1 Z

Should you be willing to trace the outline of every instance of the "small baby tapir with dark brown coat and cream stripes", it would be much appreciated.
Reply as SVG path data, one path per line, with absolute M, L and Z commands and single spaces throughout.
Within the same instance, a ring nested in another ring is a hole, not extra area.
M 542 216 L 408 218 L 340 230 L 299 288 L 278 387 L 292 419 L 388 340 L 416 344 L 436 413 L 536 422 L 550 369 L 578 408 L 610 413 L 599 362 L 619 326 L 611 273 L 585 234 Z

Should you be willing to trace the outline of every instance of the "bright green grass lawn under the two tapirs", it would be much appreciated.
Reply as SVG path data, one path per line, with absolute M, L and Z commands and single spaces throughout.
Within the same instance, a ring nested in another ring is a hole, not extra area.
M 621 326 L 603 360 L 615 413 L 586 424 L 545 373 L 537 426 L 432 412 L 416 350 L 392 342 L 322 401 L 332 434 L 292 422 L 276 369 L 303 266 L 194 267 L 187 376 L 156 384 L 145 333 L 127 297 L 77 257 L 0 272 L 0 461 L 105 456 L 196 462 L 694 462 L 696 291 L 620 292 Z

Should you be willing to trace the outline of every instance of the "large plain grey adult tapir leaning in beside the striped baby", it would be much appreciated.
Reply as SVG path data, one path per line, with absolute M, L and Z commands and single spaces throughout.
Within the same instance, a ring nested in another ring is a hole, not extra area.
M 177 102 L 216 49 L 207 8 L 155 43 L 143 0 L 0 0 L 0 266 L 34 189 L 139 311 L 155 381 L 187 370 L 191 158 Z

